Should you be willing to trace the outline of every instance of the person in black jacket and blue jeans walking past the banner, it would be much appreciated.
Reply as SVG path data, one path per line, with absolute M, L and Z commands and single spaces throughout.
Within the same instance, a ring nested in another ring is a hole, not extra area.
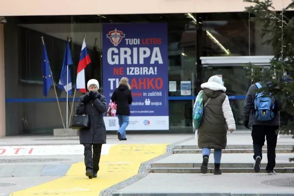
M 122 77 L 119 87 L 115 89 L 111 96 L 112 102 L 117 104 L 116 115 L 119 119 L 120 128 L 118 130 L 118 139 L 126 140 L 125 129 L 129 123 L 130 104 L 133 102 L 131 88 L 128 83 L 128 78 Z

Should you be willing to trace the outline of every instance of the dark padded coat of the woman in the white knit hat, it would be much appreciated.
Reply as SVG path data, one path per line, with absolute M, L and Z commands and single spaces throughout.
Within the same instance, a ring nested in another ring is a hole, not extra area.
M 76 114 L 89 115 L 90 128 L 79 130 L 80 144 L 106 144 L 106 128 L 103 120 L 103 113 L 106 111 L 106 98 L 100 94 L 97 99 L 90 100 L 82 104 L 81 100 L 86 95 L 79 98 Z

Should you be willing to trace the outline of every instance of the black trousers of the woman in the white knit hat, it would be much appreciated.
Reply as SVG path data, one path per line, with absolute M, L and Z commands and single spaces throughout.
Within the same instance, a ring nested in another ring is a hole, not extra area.
M 92 146 L 93 146 L 93 158 L 92 158 Z M 93 173 L 99 171 L 99 161 L 101 156 L 102 144 L 84 144 L 84 156 L 86 171 L 90 170 Z

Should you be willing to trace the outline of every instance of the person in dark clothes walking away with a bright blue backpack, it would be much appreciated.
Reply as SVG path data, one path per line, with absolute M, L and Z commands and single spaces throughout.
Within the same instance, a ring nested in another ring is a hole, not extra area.
M 268 67 L 262 73 L 270 72 Z M 263 92 L 263 88 L 269 85 L 266 81 L 252 84 L 247 92 L 244 103 L 244 126 L 249 129 L 252 126 L 251 136 L 253 140 L 253 158 L 255 160 L 254 171 L 260 171 L 262 160 L 262 147 L 267 139 L 268 164 L 266 171 L 269 175 L 275 174 L 275 158 L 277 145 L 277 129 L 280 127 L 279 104 L 270 94 Z M 259 90 L 260 89 L 260 90 Z

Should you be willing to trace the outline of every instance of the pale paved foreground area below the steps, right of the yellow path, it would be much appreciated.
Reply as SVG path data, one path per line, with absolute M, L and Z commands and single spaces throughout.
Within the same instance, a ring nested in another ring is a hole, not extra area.
M 294 187 L 274 186 L 270 183 L 289 180 L 294 181 L 293 174 L 151 173 L 114 196 L 294 196 Z

